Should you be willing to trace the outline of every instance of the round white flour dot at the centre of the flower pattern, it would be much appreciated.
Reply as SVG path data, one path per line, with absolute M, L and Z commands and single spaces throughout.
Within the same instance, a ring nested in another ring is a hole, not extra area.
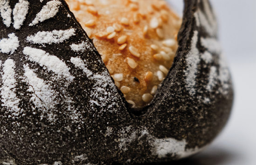
M 8 37 L 0 40 L 0 50 L 2 53 L 13 54 L 20 46 L 20 41 L 14 33 L 9 34 Z

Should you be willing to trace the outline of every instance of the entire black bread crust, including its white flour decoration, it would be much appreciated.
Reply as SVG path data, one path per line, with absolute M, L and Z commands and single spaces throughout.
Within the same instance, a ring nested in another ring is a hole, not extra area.
M 208 0 L 185 0 L 174 63 L 140 109 L 64 0 L 2 0 L 0 12 L 0 164 L 181 159 L 228 120 L 233 89 Z

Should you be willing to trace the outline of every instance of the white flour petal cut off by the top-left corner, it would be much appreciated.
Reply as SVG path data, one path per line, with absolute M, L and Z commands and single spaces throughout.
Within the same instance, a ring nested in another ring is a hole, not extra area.
M 0 13 L 3 18 L 3 22 L 7 27 L 10 27 L 12 23 L 12 9 L 9 6 L 9 0 L 0 0 Z

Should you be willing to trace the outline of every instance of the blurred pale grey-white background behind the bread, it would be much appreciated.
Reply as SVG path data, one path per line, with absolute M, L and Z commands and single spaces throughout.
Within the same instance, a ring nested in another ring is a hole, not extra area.
M 182 14 L 183 0 L 169 1 Z M 207 150 L 174 165 L 256 165 L 256 0 L 210 2 L 234 81 L 234 106 L 227 126 Z

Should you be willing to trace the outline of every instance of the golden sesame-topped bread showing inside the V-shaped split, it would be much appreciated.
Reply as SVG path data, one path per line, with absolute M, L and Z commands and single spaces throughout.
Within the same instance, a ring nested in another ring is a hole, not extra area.
M 132 107 L 152 101 L 172 65 L 181 19 L 164 0 L 66 0 Z

